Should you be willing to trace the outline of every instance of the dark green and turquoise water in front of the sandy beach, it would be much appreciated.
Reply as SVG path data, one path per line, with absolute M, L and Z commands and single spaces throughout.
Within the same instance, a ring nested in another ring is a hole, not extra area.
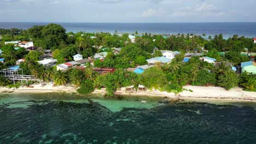
M 0 95 L 0 143 L 254 143 L 253 103 L 176 103 L 158 98 Z M 146 104 L 141 100 L 148 101 Z

